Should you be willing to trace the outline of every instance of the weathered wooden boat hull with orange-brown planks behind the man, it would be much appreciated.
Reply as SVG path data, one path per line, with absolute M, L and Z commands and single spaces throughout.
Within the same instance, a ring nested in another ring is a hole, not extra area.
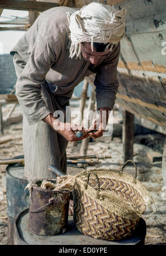
M 126 34 L 118 63 L 116 103 L 166 127 L 166 2 L 111 1 L 126 8 Z M 164 48 L 165 47 L 165 48 Z M 90 78 L 89 81 L 93 81 Z

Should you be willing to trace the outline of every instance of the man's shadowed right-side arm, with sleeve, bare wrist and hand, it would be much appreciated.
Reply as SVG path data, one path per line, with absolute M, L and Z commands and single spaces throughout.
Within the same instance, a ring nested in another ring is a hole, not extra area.
M 117 64 L 120 54 L 120 43 L 110 54 L 110 57 L 103 61 L 97 68 L 95 78 L 97 110 L 100 111 L 100 118 L 94 123 L 95 133 L 90 133 L 92 138 L 98 138 L 105 132 L 108 117 L 113 109 L 118 91 Z

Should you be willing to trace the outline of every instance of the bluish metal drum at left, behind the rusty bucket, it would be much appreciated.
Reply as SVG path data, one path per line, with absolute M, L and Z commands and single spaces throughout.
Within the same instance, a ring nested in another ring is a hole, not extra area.
M 10 164 L 6 168 L 6 193 L 8 213 L 8 244 L 14 244 L 14 220 L 24 209 L 29 208 L 28 184 L 24 179 L 24 167 Z

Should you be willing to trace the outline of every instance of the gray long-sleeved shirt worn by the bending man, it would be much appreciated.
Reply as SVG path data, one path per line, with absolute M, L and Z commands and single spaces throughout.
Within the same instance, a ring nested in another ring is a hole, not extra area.
M 27 63 L 18 77 L 16 95 L 29 124 L 51 113 L 41 96 L 41 84 L 45 79 L 52 84 L 51 92 L 65 104 L 74 87 L 86 76 L 96 73 L 97 109 L 112 109 L 115 104 L 120 43 L 95 66 L 86 62 L 82 55 L 81 59 L 69 58 L 70 31 L 66 12 L 73 13 L 75 9 L 55 7 L 40 14 L 11 51 L 13 55 L 18 52 Z

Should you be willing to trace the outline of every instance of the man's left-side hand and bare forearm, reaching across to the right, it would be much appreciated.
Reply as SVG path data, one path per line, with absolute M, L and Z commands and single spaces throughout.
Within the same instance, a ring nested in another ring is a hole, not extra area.
M 53 117 L 53 114 L 46 116 L 43 121 L 48 123 L 49 126 L 63 135 L 63 137 L 65 137 L 69 142 L 79 141 L 89 137 L 89 134 L 86 134 L 87 130 L 85 130 L 83 127 L 77 127 L 76 124 L 60 122 L 57 118 Z M 78 130 L 86 135 L 82 136 L 81 138 L 77 138 L 75 132 Z

